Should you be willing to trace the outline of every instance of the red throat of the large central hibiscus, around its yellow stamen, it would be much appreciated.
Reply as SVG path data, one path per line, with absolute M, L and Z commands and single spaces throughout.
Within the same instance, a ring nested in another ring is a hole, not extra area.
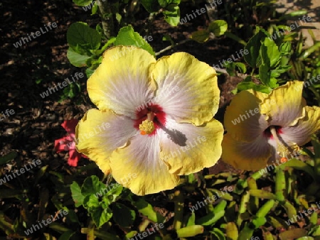
M 148 104 L 148 107 L 136 111 L 137 119 L 134 128 L 142 135 L 153 135 L 156 130 L 166 124 L 166 114 L 158 104 Z

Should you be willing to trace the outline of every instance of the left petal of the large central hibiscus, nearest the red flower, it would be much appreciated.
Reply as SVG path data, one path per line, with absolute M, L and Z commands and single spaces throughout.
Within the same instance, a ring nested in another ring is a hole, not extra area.
M 112 111 L 90 109 L 76 128 L 76 147 L 80 153 L 94 160 L 104 173 L 110 173 L 111 153 L 124 146 L 138 131 L 132 119 Z

